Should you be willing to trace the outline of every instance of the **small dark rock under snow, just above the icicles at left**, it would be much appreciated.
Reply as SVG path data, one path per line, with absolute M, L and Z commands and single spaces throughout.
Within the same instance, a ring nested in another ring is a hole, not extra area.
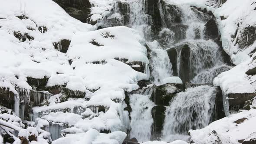
M 36 88 L 38 90 L 43 90 L 48 82 L 48 77 L 44 76 L 43 79 L 36 79 L 36 78 L 32 78 L 32 77 L 27 77 L 27 83 L 30 86 L 36 86 Z

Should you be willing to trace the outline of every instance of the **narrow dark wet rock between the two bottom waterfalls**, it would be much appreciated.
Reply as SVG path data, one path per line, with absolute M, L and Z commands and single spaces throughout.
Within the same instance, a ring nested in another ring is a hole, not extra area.
M 166 108 L 163 105 L 156 105 L 151 110 L 151 115 L 154 120 L 151 129 L 151 139 L 161 139 L 161 131 L 164 127 L 165 110 Z

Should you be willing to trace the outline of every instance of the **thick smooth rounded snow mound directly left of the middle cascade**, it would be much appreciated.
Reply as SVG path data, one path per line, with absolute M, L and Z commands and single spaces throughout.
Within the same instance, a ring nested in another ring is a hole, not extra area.
M 80 58 L 82 62 L 120 58 L 148 63 L 144 39 L 134 29 L 125 26 L 76 33 L 67 56 L 69 59 Z

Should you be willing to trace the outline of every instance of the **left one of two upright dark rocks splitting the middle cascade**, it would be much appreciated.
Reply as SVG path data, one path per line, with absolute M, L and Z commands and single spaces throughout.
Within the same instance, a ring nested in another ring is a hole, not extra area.
M 178 76 L 177 72 L 177 50 L 175 48 L 171 48 L 167 50 L 167 54 L 169 56 L 172 70 L 173 70 L 173 76 Z

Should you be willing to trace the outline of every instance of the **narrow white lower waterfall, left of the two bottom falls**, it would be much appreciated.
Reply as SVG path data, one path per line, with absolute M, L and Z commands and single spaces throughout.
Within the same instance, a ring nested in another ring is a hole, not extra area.
M 130 136 L 138 141 L 149 141 L 151 138 L 151 126 L 153 118 L 151 109 L 154 103 L 149 99 L 152 94 L 151 88 L 141 94 L 129 95 L 131 105 Z

